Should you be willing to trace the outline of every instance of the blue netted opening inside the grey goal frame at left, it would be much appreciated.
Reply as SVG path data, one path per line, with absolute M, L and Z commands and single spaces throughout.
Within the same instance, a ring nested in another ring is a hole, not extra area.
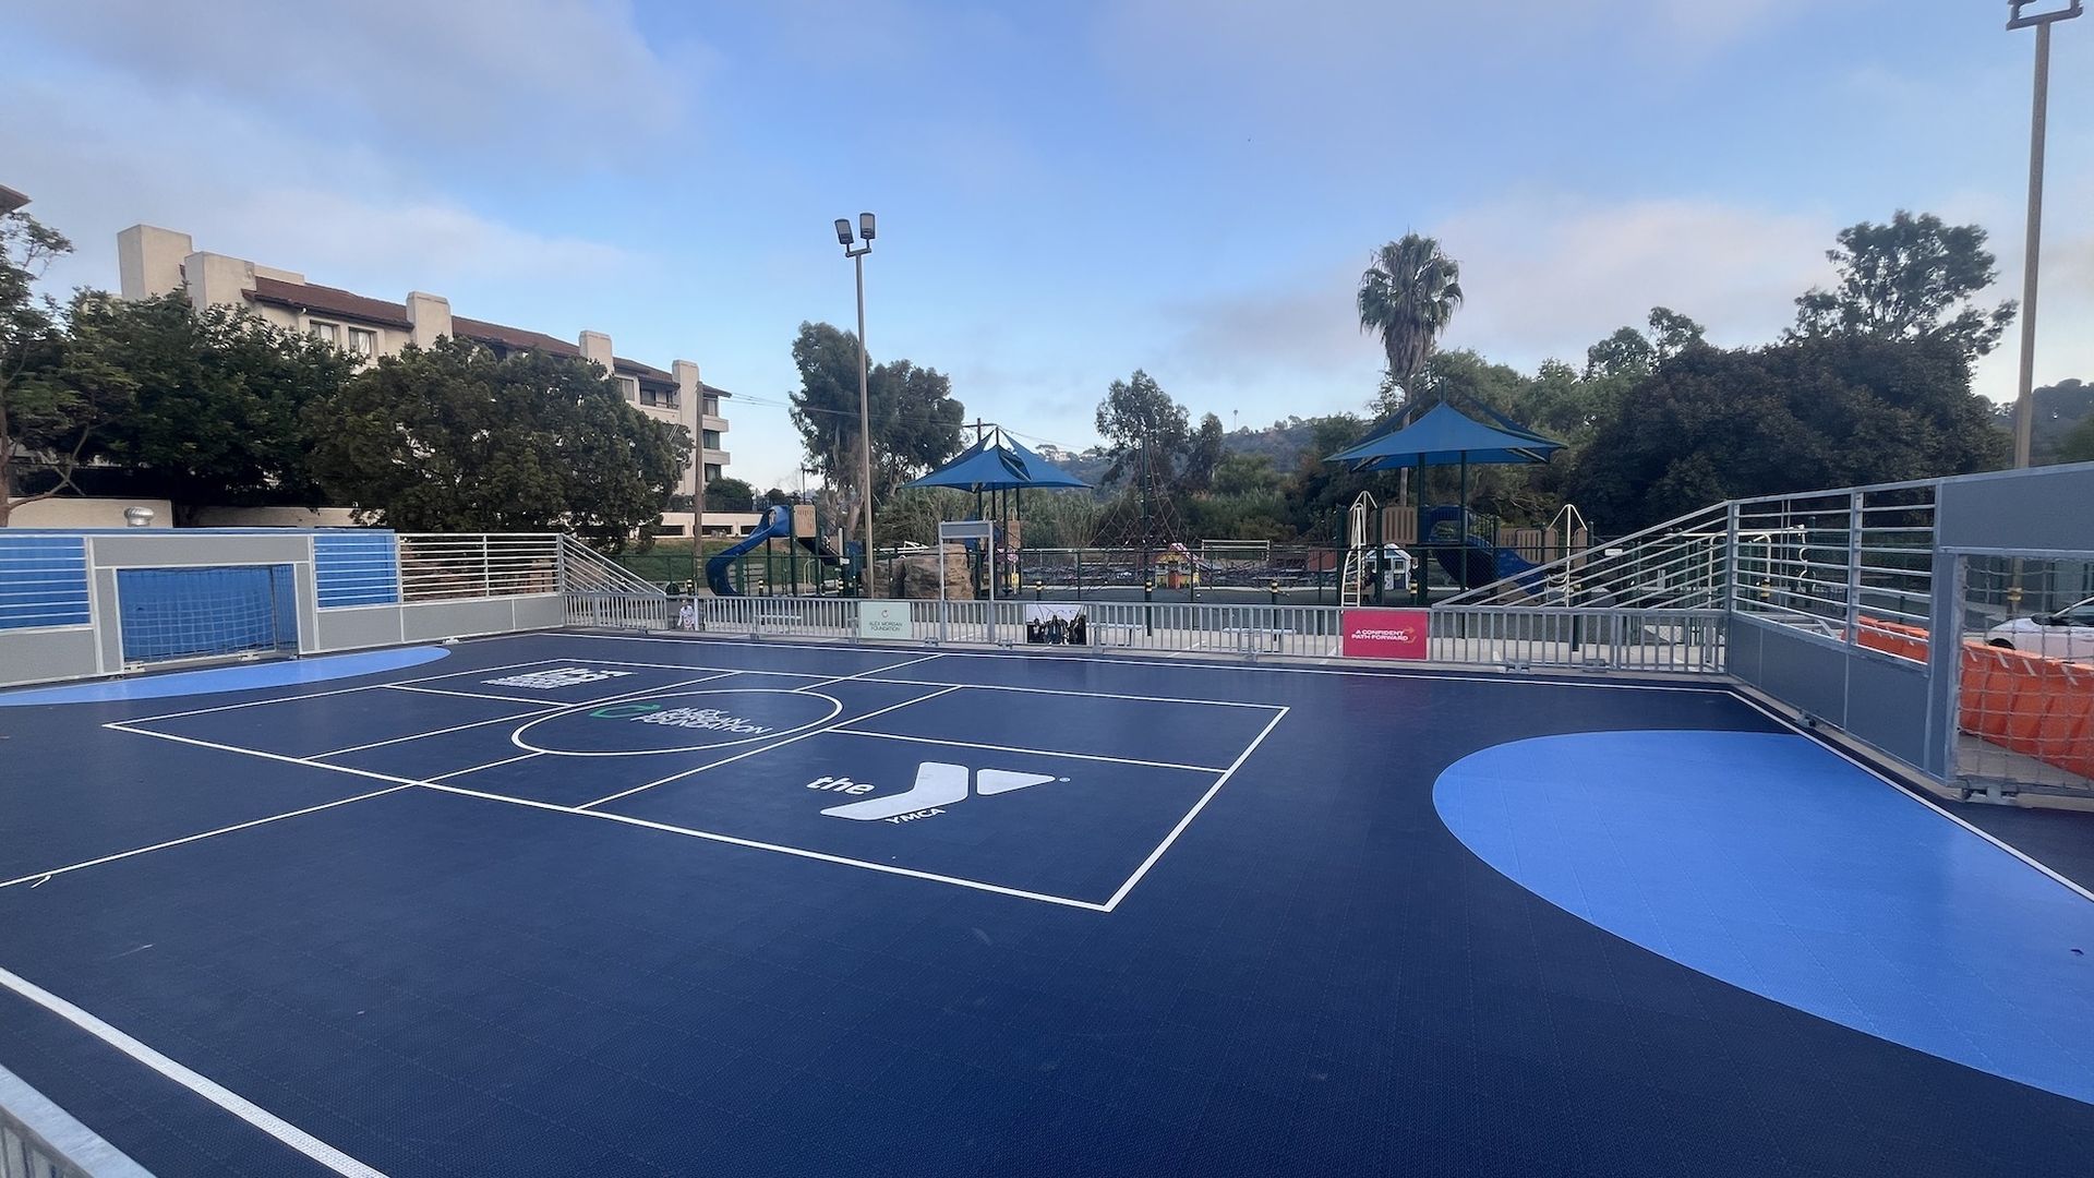
M 289 564 L 117 570 L 124 660 L 297 650 Z

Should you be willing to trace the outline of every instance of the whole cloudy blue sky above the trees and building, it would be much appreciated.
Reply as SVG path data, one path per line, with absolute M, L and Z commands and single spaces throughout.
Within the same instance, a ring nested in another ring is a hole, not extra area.
M 1434 233 L 1447 346 L 1524 369 L 1667 304 L 1765 342 L 1897 208 L 2019 296 L 2031 34 L 2004 0 L 17 0 L 0 182 L 115 235 L 693 358 L 731 474 L 792 484 L 829 222 L 879 214 L 869 342 L 1068 446 L 1141 367 L 1196 413 L 1359 409 L 1367 252 Z M 2056 36 L 2037 379 L 2094 379 L 2094 19 Z M 2012 344 L 1979 369 L 2012 394 Z

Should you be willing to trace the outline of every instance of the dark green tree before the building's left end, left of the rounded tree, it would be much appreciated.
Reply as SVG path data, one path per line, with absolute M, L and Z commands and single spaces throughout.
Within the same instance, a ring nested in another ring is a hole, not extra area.
M 316 505 L 304 411 L 333 396 L 358 358 L 245 308 L 197 310 L 184 293 L 75 300 L 73 340 L 98 342 L 136 386 L 96 457 L 132 495 L 203 503 Z

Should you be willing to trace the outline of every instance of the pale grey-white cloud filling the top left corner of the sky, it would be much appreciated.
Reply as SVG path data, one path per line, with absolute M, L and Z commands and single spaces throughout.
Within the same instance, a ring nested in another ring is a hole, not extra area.
M 25 0 L 8 23 L 163 94 L 274 109 L 320 138 L 461 151 L 586 157 L 670 130 L 706 63 L 649 48 L 620 0 Z

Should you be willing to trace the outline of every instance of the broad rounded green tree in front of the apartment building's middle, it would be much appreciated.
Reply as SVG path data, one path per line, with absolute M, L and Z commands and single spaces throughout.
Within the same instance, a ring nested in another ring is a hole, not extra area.
M 463 340 L 385 356 L 306 417 L 320 484 L 402 530 L 572 530 L 620 551 L 691 457 L 691 432 L 626 405 L 599 365 Z

